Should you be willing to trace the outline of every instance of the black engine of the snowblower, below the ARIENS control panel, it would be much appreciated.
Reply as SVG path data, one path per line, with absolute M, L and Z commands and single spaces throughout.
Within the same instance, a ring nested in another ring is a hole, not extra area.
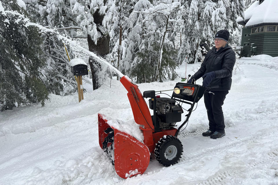
M 153 98 L 149 99 L 149 108 L 153 110 Z M 156 123 L 159 129 L 169 129 L 176 126 L 176 122 L 181 121 L 183 110 L 180 105 L 175 105 L 176 101 L 171 98 L 156 98 Z M 153 116 L 152 116 L 153 119 Z

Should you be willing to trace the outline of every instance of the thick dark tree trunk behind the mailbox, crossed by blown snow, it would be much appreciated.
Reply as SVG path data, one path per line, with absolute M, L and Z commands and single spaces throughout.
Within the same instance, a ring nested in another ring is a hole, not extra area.
M 109 35 L 98 38 L 97 44 L 95 44 L 95 42 L 92 40 L 92 38 L 89 35 L 87 40 L 88 40 L 89 51 L 103 58 L 105 57 L 105 55 L 109 53 L 109 44 L 110 44 Z M 99 83 L 99 73 L 101 70 L 101 65 L 92 56 L 90 56 L 89 58 L 89 65 L 92 72 L 93 89 L 96 90 L 101 85 Z

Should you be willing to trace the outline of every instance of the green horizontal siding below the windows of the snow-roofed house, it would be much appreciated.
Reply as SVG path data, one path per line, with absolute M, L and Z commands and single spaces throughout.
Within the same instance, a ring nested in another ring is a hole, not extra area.
M 250 34 L 250 44 L 252 43 L 254 43 L 253 47 L 257 47 L 255 55 L 278 56 L 278 32 Z

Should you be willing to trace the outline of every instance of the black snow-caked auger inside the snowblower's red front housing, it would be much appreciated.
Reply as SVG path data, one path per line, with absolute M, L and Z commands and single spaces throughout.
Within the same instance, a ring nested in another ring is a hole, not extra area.
M 111 128 L 110 128 L 111 129 Z M 107 153 L 108 158 L 111 160 L 112 164 L 114 165 L 114 130 L 112 131 L 109 128 L 105 130 L 105 133 L 109 133 L 106 138 L 104 138 L 104 141 L 102 143 L 102 149 Z M 111 143 L 108 147 L 108 143 Z

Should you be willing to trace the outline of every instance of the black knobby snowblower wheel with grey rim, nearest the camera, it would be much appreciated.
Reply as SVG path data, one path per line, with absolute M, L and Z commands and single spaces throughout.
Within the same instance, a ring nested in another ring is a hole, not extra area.
M 167 151 L 166 151 L 167 150 Z M 180 160 L 183 152 L 182 143 L 175 136 L 164 136 L 156 143 L 154 154 L 163 166 L 171 166 Z M 169 154 L 169 155 L 167 155 Z

